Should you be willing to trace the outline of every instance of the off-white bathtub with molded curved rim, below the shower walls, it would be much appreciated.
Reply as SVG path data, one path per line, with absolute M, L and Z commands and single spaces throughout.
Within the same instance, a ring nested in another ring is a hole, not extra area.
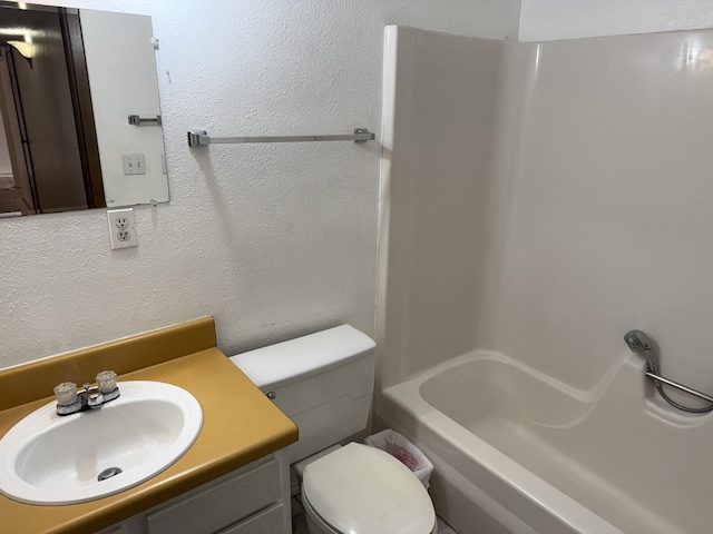
M 713 416 L 658 404 L 643 366 L 582 392 L 473 352 L 387 388 L 377 417 L 433 462 L 463 534 L 713 532 Z

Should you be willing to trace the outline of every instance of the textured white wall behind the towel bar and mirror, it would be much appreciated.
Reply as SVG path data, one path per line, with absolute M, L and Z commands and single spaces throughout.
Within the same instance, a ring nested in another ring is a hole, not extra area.
M 339 323 L 373 334 L 379 145 L 215 146 L 185 132 L 378 131 L 383 27 L 517 34 L 519 0 L 77 0 L 153 17 L 170 202 L 1 220 L 0 367 L 214 315 L 246 349 Z

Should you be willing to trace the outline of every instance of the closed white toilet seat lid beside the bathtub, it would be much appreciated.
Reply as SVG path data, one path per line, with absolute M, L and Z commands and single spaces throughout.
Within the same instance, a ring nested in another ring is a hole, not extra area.
M 431 498 L 416 475 L 388 453 L 359 443 L 307 465 L 302 494 L 343 533 L 429 534 L 436 523 Z

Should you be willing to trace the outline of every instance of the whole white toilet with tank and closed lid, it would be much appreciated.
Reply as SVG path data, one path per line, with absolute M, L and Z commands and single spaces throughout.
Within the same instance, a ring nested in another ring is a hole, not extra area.
M 231 357 L 300 429 L 290 463 L 311 534 L 437 532 L 428 492 L 408 467 L 367 445 L 336 445 L 367 427 L 374 348 L 343 325 Z

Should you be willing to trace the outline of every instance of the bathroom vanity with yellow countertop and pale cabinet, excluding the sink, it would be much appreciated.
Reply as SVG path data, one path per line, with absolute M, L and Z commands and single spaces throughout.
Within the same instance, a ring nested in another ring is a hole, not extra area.
M 0 370 L 0 436 L 52 402 L 55 385 L 104 369 L 115 369 L 119 383 L 164 382 L 195 396 L 203 409 L 195 443 L 153 478 L 104 498 L 33 505 L 0 495 L 0 532 L 291 532 L 284 449 L 297 429 L 216 347 L 209 317 Z

